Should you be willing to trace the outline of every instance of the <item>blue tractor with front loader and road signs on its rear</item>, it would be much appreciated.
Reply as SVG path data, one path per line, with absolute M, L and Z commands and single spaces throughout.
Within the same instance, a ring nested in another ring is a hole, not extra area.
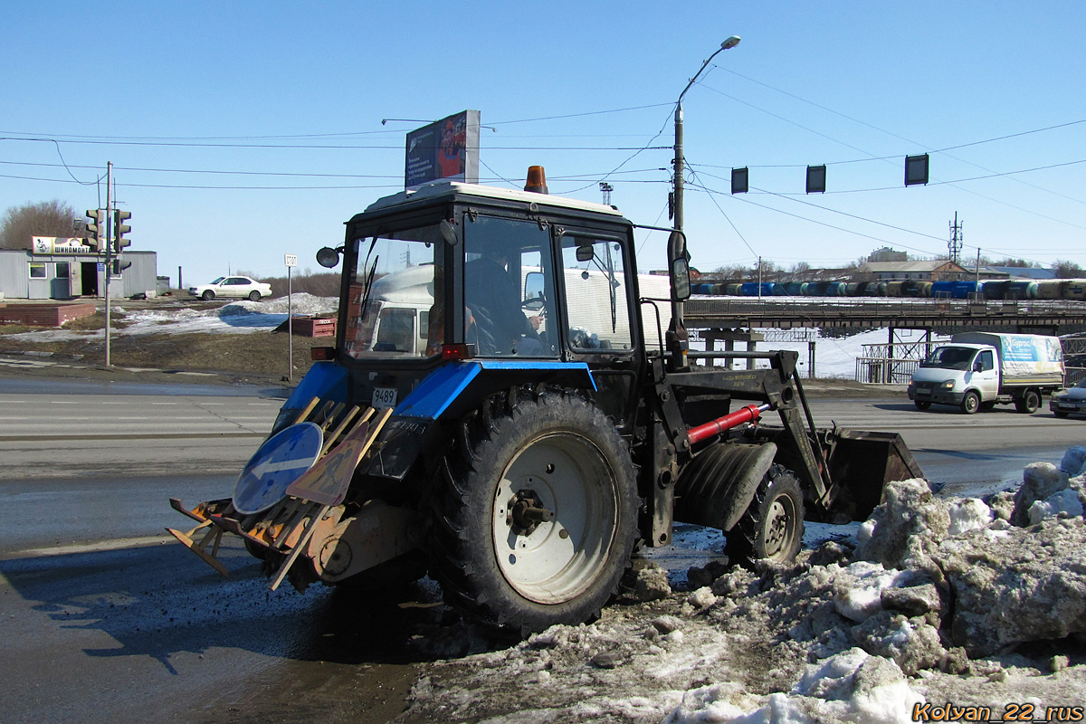
M 690 348 L 680 232 L 668 272 L 639 274 L 639 227 L 538 190 L 441 181 L 352 218 L 317 255 L 343 267 L 336 346 L 230 497 L 172 501 L 197 521 L 174 535 L 224 574 L 241 536 L 273 587 L 428 574 L 526 635 L 597 617 L 673 521 L 784 561 L 805 511 L 862 520 L 921 475 L 896 434 L 816 430 L 796 353 Z

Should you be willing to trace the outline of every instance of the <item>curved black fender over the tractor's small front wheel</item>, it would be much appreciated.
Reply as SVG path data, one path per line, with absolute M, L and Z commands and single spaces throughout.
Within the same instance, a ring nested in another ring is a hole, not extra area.
M 773 465 L 773 443 L 717 443 L 697 454 L 675 481 L 674 519 L 730 531 Z

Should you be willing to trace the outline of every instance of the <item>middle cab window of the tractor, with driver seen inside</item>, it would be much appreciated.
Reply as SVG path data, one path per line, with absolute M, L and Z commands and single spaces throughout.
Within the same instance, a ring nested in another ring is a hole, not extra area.
M 464 341 L 480 357 L 554 357 L 551 234 L 535 221 L 465 217 Z

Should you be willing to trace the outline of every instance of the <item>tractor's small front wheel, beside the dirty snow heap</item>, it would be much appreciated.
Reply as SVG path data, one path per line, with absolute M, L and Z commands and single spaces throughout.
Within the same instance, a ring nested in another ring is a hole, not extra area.
M 774 465 L 746 512 L 728 532 L 724 552 L 736 563 L 794 560 L 804 539 L 804 493 L 796 477 Z

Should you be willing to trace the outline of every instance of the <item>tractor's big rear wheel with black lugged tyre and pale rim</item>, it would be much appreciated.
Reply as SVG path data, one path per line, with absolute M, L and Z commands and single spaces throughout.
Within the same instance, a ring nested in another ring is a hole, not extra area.
M 465 423 L 435 497 L 431 575 L 459 610 L 521 636 L 594 620 L 636 535 L 628 447 L 597 408 L 559 392 Z

